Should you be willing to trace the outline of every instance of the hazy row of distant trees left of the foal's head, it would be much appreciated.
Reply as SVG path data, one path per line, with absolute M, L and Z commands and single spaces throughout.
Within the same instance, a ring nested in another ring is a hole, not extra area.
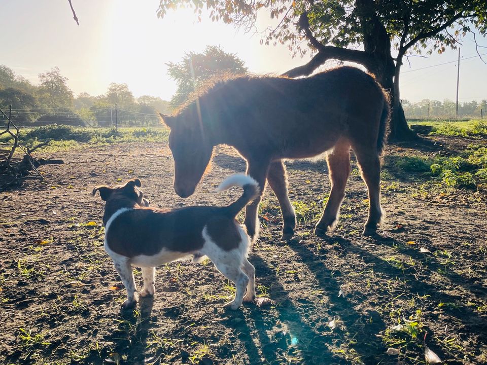
M 135 98 L 127 84 L 112 83 L 105 94 L 98 96 L 83 92 L 74 97 L 67 86 L 68 79 L 57 67 L 39 74 L 39 80 L 39 85 L 33 85 L 11 68 L 0 65 L 0 107 L 7 109 L 12 105 L 12 120 L 24 125 L 56 121 L 111 125 L 112 121 L 115 123 L 117 103 L 120 125 L 150 125 L 159 123 L 157 112 L 169 112 L 168 101 L 149 95 Z M 0 116 L 2 121 L 5 118 Z

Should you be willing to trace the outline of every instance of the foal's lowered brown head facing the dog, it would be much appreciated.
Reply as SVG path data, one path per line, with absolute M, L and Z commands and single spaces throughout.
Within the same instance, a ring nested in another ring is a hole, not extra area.
M 213 145 L 205 137 L 200 124 L 182 116 L 161 114 L 170 128 L 169 148 L 174 159 L 174 190 L 182 198 L 192 195 L 201 180 L 213 153 Z

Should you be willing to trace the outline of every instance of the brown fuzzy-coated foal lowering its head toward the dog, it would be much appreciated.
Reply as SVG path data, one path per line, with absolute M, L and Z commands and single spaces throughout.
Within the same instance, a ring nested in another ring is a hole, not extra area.
M 368 189 L 364 234 L 375 234 L 382 217 L 379 158 L 389 114 L 388 94 L 373 77 L 355 67 L 339 67 L 303 79 L 241 76 L 221 81 L 174 115 L 161 117 L 171 129 L 179 196 L 194 193 L 215 145 L 231 145 L 261 187 L 260 196 L 247 206 L 249 235 L 258 235 L 257 208 L 267 179 L 281 205 L 283 238 L 289 239 L 296 215 L 283 160 L 328 152 L 332 188 L 315 230 L 323 235 L 337 222 L 351 171 L 350 148 Z

